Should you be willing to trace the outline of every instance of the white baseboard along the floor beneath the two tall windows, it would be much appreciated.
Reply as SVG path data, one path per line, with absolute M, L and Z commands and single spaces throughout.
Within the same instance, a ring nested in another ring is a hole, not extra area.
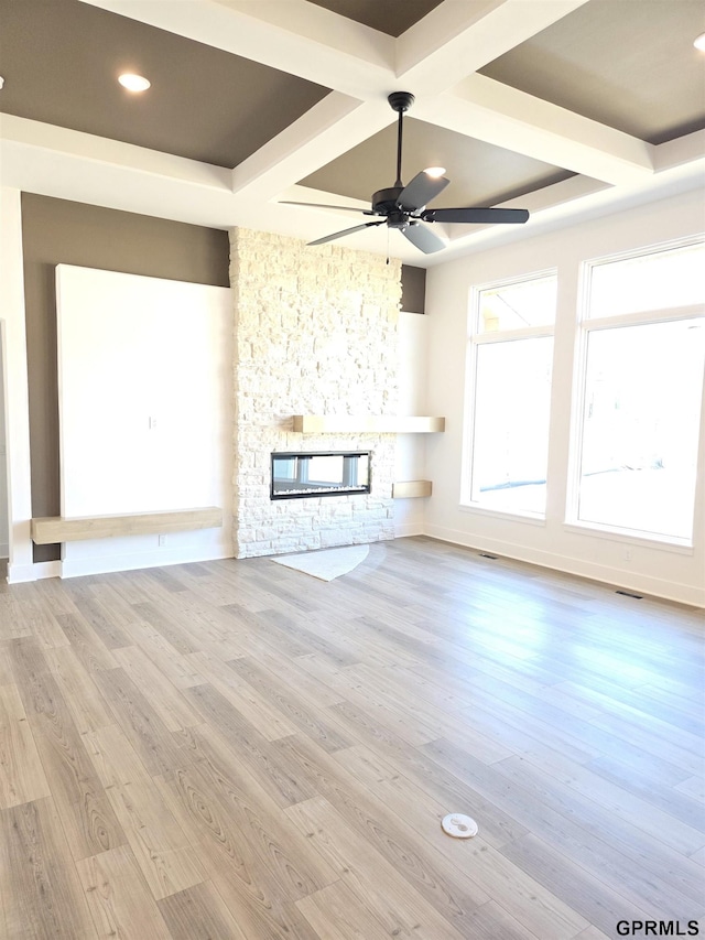
M 466 532 L 440 526 L 426 526 L 423 534 L 430 536 L 433 539 L 440 539 L 443 542 L 462 545 L 463 548 L 491 551 L 495 554 L 511 558 L 516 561 L 523 561 L 529 564 L 540 565 L 541 568 L 562 571 L 565 574 L 575 574 L 578 577 L 589 577 L 592 581 L 612 584 L 615 587 L 634 591 L 639 594 L 649 594 L 653 597 L 662 597 L 665 601 L 675 601 L 679 604 L 688 604 L 694 607 L 705 607 L 705 587 L 666 581 L 665 579 L 654 577 L 653 575 L 641 572 L 610 568 L 597 562 L 567 558 L 539 549 L 529 549 L 525 545 L 503 542 L 499 539 L 482 538 L 481 540 L 474 541 L 468 539 Z

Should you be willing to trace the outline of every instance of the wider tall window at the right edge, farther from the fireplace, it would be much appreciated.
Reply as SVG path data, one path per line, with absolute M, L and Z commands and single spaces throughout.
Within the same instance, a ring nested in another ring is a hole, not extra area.
M 586 266 L 578 522 L 692 541 L 704 271 L 703 242 Z

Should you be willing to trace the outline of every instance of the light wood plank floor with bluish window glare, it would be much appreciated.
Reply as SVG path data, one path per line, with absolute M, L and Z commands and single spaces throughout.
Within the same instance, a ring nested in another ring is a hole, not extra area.
M 6 585 L 0 936 L 685 931 L 703 626 L 427 539 Z

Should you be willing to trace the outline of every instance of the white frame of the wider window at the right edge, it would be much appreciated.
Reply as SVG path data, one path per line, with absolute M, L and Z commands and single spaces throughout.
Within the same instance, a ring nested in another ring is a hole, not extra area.
M 687 554 L 692 554 L 693 552 L 695 525 L 691 537 L 683 538 L 679 536 L 649 532 L 643 529 L 629 529 L 623 526 L 612 526 L 608 522 L 585 520 L 581 519 L 578 514 L 583 467 L 585 398 L 587 392 L 587 358 L 590 333 L 630 326 L 649 326 L 650 324 L 657 323 L 674 323 L 686 320 L 696 320 L 705 316 L 705 303 L 679 305 L 673 307 L 658 307 L 631 313 L 610 314 L 608 316 L 590 316 L 590 287 L 593 271 L 600 264 L 629 261 L 634 258 L 647 258 L 650 255 L 661 255 L 668 251 L 679 250 L 681 248 L 703 245 L 705 245 L 705 236 L 691 236 L 687 238 L 658 242 L 655 245 L 642 246 L 641 248 L 630 249 L 628 251 L 619 251 L 597 258 L 590 258 L 581 263 L 574 353 L 573 407 L 571 412 L 571 434 L 568 444 L 568 473 L 563 525 L 563 528 L 566 531 L 576 531 L 583 534 L 592 532 L 596 536 L 608 536 L 614 540 L 633 544 L 653 545 L 655 543 L 662 549 Z M 701 421 L 697 433 L 698 465 L 702 466 L 705 462 L 705 369 L 701 400 Z M 696 480 L 696 487 L 698 483 Z M 694 494 L 693 511 L 695 511 L 696 504 L 697 493 Z M 695 519 L 693 519 L 693 522 L 695 523 Z

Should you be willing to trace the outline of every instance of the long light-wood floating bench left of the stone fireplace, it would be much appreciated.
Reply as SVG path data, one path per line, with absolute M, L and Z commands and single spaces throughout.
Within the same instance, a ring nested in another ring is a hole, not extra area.
M 85 516 L 73 519 L 44 516 L 32 519 L 32 541 L 37 545 L 51 545 L 55 542 L 110 539 L 117 536 L 150 536 L 186 532 L 193 529 L 219 529 L 221 526 L 223 509 L 217 506 L 121 516 Z

